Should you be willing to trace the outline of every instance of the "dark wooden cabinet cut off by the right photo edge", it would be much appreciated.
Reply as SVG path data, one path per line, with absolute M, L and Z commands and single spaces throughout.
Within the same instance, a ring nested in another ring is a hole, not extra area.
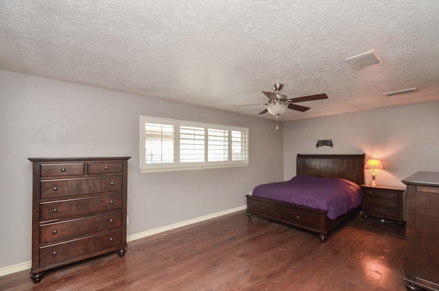
M 407 290 L 439 290 L 439 172 L 417 172 L 405 178 L 407 224 L 405 283 Z

